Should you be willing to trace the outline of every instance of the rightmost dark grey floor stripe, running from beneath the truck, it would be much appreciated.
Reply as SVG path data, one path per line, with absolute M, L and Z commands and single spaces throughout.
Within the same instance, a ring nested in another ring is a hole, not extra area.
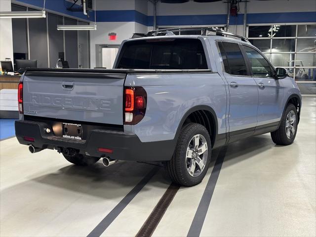
M 188 233 L 188 237 L 198 237 L 199 234 L 201 233 L 205 216 L 208 210 L 208 206 L 211 202 L 215 185 L 216 185 L 216 182 L 217 182 L 217 179 L 218 179 L 218 176 L 221 171 L 222 164 L 226 155 L 226 150 L 227 150 L 227 147 L 223 147 L 218 154 L 211 176 L 208 179 L 203 196 L 198 204 L 197 212 L 192 221 L 192 224 Z

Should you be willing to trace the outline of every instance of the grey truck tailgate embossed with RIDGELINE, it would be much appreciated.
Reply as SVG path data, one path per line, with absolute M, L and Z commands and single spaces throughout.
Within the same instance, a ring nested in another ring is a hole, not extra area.
M 123 124 L 124 73 L 26 72 L 24 114 Z

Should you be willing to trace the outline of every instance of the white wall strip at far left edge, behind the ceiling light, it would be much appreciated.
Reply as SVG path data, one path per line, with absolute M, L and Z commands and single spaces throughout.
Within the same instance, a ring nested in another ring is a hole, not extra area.
M 0 0 L 1 11 L 11 11 L 11 0 Z M 0 60 L 11 58 L 13 61 L 12 21 L 0 18 Z

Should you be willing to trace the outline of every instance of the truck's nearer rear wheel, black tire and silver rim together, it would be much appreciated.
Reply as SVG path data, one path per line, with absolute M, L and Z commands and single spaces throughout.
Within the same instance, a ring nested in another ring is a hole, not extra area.
M 198 123 L 185 125 L 175 152 L 166 164 L 171 180 L 189 187 L 200 183 L 209 166 L 211 148 L 210 136 L 204 126 Z

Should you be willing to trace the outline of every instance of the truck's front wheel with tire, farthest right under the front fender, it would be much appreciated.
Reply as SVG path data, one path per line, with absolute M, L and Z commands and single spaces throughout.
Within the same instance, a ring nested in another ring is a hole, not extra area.
M 288 104 L 281 118 L 279 128 L 271 133 L 276 145 L 290 145 L 294 142 L 297 132 L 298 115 L 293 104 Z

